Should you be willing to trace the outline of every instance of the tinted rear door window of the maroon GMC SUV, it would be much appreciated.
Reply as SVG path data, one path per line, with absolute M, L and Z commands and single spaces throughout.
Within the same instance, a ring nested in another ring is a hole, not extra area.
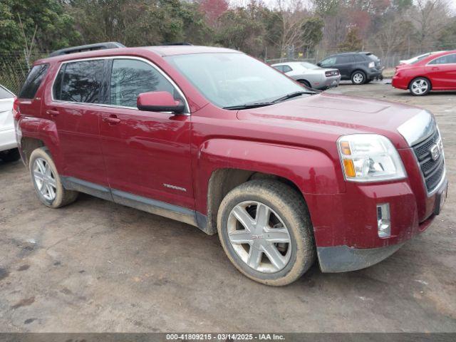
M 98 103 L 103 83 L 103 60 L 65 63 L 53 85 L 55 100 Z

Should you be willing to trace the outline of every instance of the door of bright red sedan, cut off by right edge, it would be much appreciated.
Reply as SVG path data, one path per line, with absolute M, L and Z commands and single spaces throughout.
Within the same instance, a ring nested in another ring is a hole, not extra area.
M 456 53 L 440 56 L 425 66 L 434 89 L 456 89 Z

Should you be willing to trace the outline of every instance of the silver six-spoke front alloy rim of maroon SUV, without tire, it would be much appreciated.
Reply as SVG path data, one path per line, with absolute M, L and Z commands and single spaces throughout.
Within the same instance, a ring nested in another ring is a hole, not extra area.
M 289 230 L 266 204 L 237 204 L 229 214 L 227 230 L 232 248 L 252 269 L 274 273 L 288 264 L 292 248 Z

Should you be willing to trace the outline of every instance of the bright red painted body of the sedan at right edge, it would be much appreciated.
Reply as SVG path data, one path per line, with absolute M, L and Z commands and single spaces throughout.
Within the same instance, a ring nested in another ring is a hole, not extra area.
M 432 90 L 456 90 L 456 63 L 428 64 L 435 58 L 456 53 L 456 50 L 433 53 L 415 64 L 401 64 L 396 67 L 392 85 L 399 89 L 408 89 L 410 82 L 417 77 L 425 77 Z

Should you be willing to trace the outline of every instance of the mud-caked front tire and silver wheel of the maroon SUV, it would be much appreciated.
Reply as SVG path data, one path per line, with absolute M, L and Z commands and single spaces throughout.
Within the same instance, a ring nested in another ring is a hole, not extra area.
M 276 180 L 252 180 L 231 190 L 220 204 L 217 229 L 232 264 L 261 284 L 290 284 L 314 264 L 306 204 Z

